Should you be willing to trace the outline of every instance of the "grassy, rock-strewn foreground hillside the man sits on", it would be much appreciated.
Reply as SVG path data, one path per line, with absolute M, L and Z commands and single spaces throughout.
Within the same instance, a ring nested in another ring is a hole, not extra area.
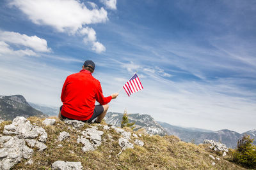
M 0 145 L 2 169 L 244 169 L 209 145 L 104 122 L 17 117 L 1 122 Z

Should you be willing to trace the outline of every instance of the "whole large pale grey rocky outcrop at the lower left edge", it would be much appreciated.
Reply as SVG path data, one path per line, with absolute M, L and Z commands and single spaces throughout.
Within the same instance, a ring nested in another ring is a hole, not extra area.
M 0 169 L 3 170 L 12 168 L 22 159 L 29 159 L 33 154 L 33 147 L 38 148 L 40 152 L 47 148 L 44 144 L 47 141 L 45 130 L 31 125 L 24 117 L 16 117 L 12 124 L 5 125 L 3 134 L 15 135 L 0 137 Z

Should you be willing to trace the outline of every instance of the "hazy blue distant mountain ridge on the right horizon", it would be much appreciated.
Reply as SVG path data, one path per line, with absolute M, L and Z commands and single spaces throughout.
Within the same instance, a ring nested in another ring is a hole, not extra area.
M 237 140 L 243 136 L 234 131 L 228 129 L 223 129 L 216 132 L 200 132 L 198 129 L 196 131 L 191 131 L 191 129 L 173 126 L 164 122 L 158 122 L 169 135 L 175 135 L 179 137 L 182 141 L 194 142 L 195 144 L 203 143 L 204 139 L 211 139 L 214 141 L 220 141 L 224 143 L 228 148 L 236 148 Z M 245 134 L 245 133 L 244 133 Z M 246 134 L 250 134 L 252 138 L 256 137 L 256 131 L 248 131 Z

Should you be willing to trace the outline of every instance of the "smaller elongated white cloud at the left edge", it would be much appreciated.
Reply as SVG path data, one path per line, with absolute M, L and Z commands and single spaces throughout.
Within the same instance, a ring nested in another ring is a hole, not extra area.
M 27 36 L 19 32 L 0 31 L 0 40 L 17 46 L 32 48 L 37 52 L 51 52 L 47 41 L 37 36 Z

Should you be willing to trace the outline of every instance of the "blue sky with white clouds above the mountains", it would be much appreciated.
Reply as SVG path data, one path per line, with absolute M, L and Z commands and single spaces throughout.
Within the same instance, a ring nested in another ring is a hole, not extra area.
M 65 78 L 96 64 L 109 111 L 182 127 L 256 129 L 256 1 L 0 1 L 0 95 L 61 106 Z

